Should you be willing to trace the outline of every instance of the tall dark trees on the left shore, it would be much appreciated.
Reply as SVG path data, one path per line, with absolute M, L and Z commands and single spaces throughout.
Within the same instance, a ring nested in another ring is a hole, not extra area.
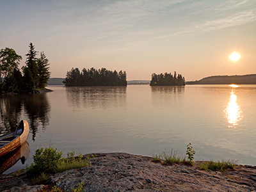
M 26 66 L 18 68 L 22 57 L 13 49 L 6 47 L 0 50 L 0 94 L 1 93 L 28 93 L 44 90 L 50 77 L 49 60 L 44 52 L 36 58 L 38 51 L 30 43 L 26 54 Z

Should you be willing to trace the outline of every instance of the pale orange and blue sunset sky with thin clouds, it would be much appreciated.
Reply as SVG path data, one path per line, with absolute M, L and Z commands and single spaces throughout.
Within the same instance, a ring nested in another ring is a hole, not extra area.
M 256 74 L 256 1 L 0 0 L 0 49 L 14 49 L 22 67 L 30 42 L 51 77 L 72 67 L 122 70 L 127 80 Z

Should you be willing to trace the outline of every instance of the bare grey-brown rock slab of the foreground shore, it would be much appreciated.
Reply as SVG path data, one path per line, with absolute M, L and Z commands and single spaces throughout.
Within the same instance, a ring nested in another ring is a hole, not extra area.
M 52 175 L 46 185 L 29 186 L 23 173 L 0 175 L 0 191 L 38 191 L 56 185 L 71 191 L 83 182 L 84 191 L 256 191 L 256 166 L 205 172 L 197 166 L 154 163 L 151 157 L 125 153 L 96 154 L 92 166 Z M 88 156 L 88 155 L 86 155 Z M 92 154 L 89 154 L 92 156 Z

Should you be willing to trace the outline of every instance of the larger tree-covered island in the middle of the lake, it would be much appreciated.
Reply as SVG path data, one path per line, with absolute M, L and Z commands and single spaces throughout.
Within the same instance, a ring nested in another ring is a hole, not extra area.
M 80 72 L 78 68 L 72 68 L 67 72 L 63 81 L 65 86 L 127 86 L 126 73 L 111 71 L 106 68 L 83 68 Z

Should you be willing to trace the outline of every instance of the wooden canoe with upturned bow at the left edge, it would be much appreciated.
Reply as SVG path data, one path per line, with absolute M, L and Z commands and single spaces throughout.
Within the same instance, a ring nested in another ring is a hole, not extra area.
M 0 137 L 0 157 L 8 154 L 19 147 L 28 139 L 29 125 L 26 121 L 20 121 L 16 131 L 10 132 Z

